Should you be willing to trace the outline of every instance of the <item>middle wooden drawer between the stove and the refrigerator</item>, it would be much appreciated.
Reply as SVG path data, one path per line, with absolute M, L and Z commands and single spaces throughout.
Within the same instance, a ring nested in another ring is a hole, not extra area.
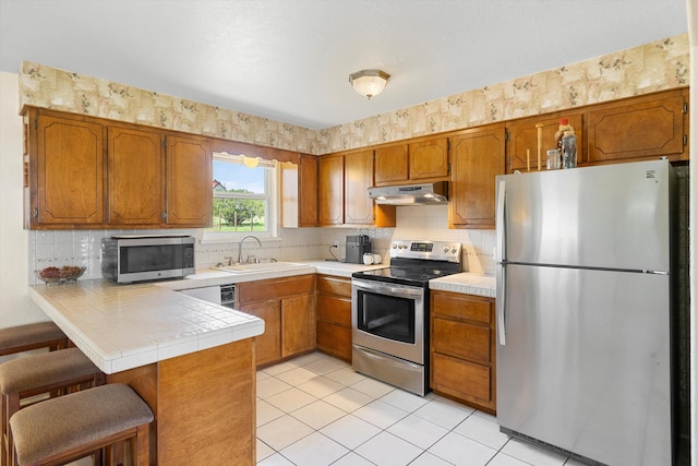
M 438 318 L 432 322 L 434 351 L 484 365 L 491 362 L 489 327 Z

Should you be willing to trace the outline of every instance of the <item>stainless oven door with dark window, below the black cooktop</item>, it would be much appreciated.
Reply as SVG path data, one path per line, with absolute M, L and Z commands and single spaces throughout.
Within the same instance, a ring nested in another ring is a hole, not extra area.
M 424 365 L 424 297 L 422 287 L 353 278 L 352 343 Z

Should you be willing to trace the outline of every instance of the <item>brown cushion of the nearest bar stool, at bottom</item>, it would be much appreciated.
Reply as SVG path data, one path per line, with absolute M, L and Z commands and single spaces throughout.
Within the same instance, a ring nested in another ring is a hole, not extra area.
M 148 405 L 129 385 L 113 383 L 20 409 L 10 429 L 23 465 L 151 421 Z

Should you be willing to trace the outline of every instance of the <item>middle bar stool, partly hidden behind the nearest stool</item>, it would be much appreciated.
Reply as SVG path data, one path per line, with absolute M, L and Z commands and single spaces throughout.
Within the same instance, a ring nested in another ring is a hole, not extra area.
M 8 425 L 22 402 L 24 409 L 32 404 L 27 398 L 36 395 L 60 394 L 104 383 L 105 374 L 79 348 L 25 356 L 0 365 L 2 465 L 11 462 L 13 441 Z

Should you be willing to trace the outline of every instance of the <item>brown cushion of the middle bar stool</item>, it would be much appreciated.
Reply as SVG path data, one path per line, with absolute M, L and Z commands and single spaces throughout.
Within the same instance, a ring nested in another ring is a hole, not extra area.
M 0 391 L 23 392 L 99 372 L 79 348 L 41 353 L 0 365 Z

